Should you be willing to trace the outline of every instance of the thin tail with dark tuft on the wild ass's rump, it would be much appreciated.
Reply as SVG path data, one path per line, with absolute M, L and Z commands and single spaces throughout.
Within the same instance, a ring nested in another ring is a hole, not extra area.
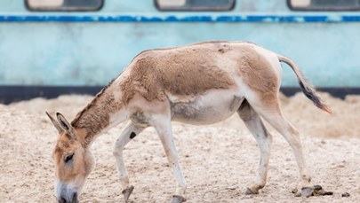
M 296 66 L 296 64 L 291 60 L 288 59 L 282 55 L 277 54 L 277 59 L 279 59 L 279 61 L 282 61 L 284 63 L 286 63 L 287 65 L 292 67 L 292 71 L 296 74 L 296 76 L 298 77 L 298 82 L 300 84 L 301 90 L 304 92 L 305 96 L 307 96 L 307 98 L 309 98 L 311 101 L 314 102 L 314 104 L 324 110 L 327 113 L 332 113 L 332 109 L 328 106 L 325 105 L 323 103 L 323 101 L 321 100 L 321 98 L 319 98 L 316 93 L 315 93 L 315 89 L 311 86 L 311 84 L 305 79 L 304 75 L 301 74 L 298 66 Z

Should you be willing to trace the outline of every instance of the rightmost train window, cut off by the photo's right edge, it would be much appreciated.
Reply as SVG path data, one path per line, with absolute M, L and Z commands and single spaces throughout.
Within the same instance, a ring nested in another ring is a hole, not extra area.
M 294 11 L 360 11 L 360 0 L 287 0 Z

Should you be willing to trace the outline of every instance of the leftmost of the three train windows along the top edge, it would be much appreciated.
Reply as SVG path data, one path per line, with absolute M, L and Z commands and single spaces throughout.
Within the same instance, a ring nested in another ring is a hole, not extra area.
M 25 0 L 33 12 L 87 12 L 98 11 L 103 0 Z

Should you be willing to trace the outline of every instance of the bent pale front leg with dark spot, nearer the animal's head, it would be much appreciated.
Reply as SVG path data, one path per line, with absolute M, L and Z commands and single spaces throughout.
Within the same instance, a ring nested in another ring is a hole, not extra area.
M 125 127 L 124 131 L 121 133 L 121 135 L 116 139 L 116 142 L 114 144 L 113 153 L 116 159 L 117 170 L 120 176 L 120 183 L 123 188 L 125 202 L 127 202 L 130 195 L 132 194 L 133 186 L 130 185 L 129 176 L 124 165 L 124 146 L 128 144 L 130 140 L 136 137 L 143 129 L 145 128 L 136 125 L 132 121 L 130 121 Z

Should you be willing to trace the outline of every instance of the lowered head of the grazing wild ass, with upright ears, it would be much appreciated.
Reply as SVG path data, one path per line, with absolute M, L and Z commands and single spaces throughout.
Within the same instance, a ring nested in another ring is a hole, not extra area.
M 84 146 L 84 129 L 75 129 L 61 113 L 46 113 L 59 131 L 52 158 L 55 164 L 55 196 L 58 202 L 78 202 L 78 195 L 92 171 L 92 153 Z

